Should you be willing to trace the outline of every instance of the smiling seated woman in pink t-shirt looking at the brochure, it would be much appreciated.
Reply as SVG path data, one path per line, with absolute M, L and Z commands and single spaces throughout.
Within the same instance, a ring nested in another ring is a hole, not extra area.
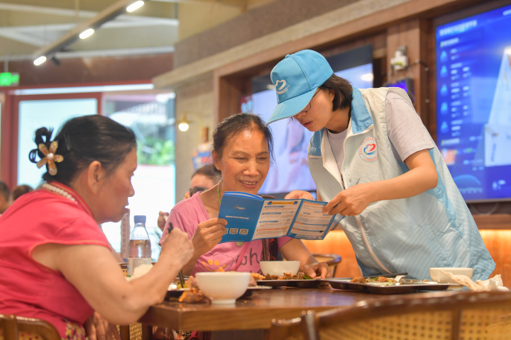
M 172 222 L 172 226 L 185 231 L 194 244 L 194 255 L 183 273 L 192 275 L 219 268 L 260 273 L 259 262 L 276 259 L 279 250 L 285 259 L 300 261 L 300 271 L 312 278 L 331 277 L 326 263 L 318 263 L 300 239 L 278 237 L 219 244 L 227 224 L 226 220 L 218 218 L 224 193 L 243 191 L 255 195 L 268 176 L 273 139 L 263 120 L 248 113 L 226 118 L 213 133 L 212 156 L 221 181 L 213 188 L 177 203 L 167 220 L 167 226 Z M 167 227 L 162 239 L 166 230 Z

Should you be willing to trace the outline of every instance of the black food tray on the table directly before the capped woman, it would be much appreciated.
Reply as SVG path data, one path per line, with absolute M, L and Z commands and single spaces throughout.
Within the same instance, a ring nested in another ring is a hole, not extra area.
M 446 290 L 451 285 L 448 283 L 419 284 L 419 283 L 400 283 L 400 285 L 373 285 L 370 283 L 356 283 L 348 280 L 335 280 L 331 278 L 322 279 L 330 283 L 332 288 L 344 290 L 365 290 L 375 294 L 407 294 L 420 290 Z

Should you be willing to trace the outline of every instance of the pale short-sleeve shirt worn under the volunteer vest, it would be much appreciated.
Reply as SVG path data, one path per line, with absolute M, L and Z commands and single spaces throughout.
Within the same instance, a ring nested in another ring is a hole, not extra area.
M 404 162 L 417 151 L 433 149 L 434 143 L 415 109 L 397 94 L 389 93 L 385 98 L 385 122 L 394 157 Z M 328 132 L 330 147 L 341 174 L 344 161 L 344 140 L 348 130 Z

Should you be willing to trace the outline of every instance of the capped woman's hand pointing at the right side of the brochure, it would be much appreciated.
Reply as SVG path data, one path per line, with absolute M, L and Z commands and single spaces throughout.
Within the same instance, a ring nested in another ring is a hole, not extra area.
M 356 184 L 341 191 L 323 208 L 329 215 L 354 216 L 363 212 L 373 202 L 371 183 Z

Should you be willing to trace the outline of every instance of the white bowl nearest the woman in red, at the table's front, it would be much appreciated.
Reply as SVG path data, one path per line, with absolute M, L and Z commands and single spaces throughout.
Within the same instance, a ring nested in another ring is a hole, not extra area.
M 197 285 L 214 305 L 233 305 L 243 295 L 250 282 L 250 273 L 196 273 Z

